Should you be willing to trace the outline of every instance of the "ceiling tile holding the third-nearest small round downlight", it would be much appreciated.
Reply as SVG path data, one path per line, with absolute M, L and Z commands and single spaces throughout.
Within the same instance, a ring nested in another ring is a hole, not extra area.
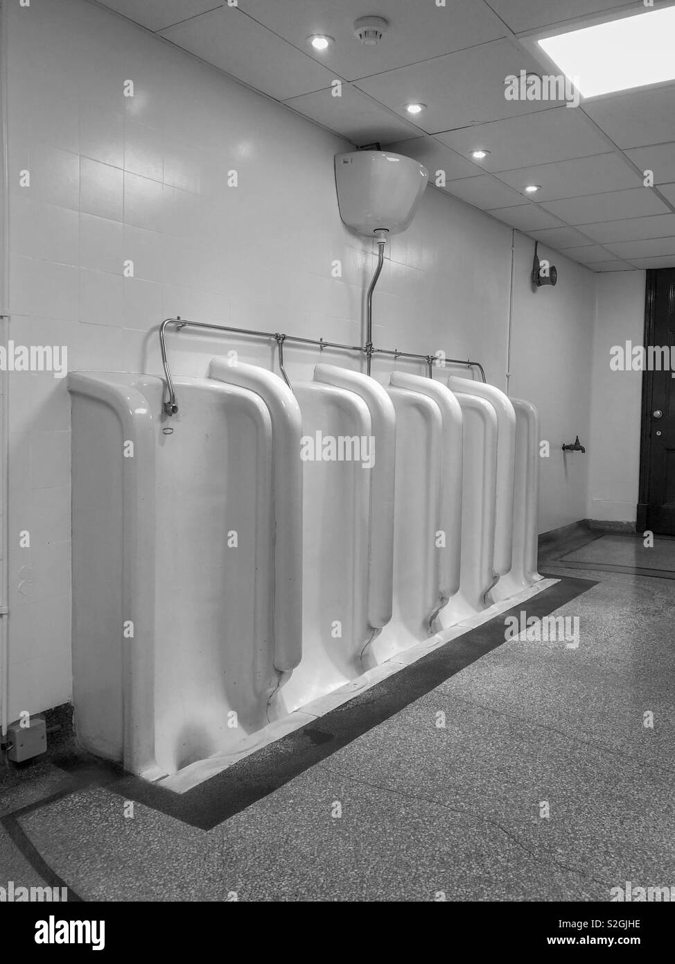
M 608 149 L 587 118 L 568 107 L 462 127 L 436 134 L 436 138 L 465 157 L 479 147 L 489 150 L 480 166 L 493 172 L 602 154 Z

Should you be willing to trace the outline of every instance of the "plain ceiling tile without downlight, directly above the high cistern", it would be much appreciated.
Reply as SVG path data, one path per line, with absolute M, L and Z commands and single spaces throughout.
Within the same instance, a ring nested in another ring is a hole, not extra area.
M 352 144 L 373 144 L 375 141 L 388 144 L 405 138 L 419 138 L 420 132 L 412 124 L 348 84 L 343 85 L 341 97 L 334 97 L 332 90 L 315 91 L 291 97 L 284 103 L 346 137 Z

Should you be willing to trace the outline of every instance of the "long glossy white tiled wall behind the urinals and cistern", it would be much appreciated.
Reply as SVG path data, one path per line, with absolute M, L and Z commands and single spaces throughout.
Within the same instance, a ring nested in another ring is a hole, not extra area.
M 67 345 L 71 370 L 157 374 L 151 330 L 168 315 L 362 342 L 373 245 L 339 220 L 333 155 L 345 142 L 85 0 L 8 3 L 14 341 Z M 525 347 L 512 387 L 540 406 L 544 435 L 569 441 L 587 411 L 587 386 L 570 372 L 590 354 L 593 278 L 558 258 L 555 294 L 533 296 L 531 260 L 522 242 L 514 331 Z M 429 188 L 392 241 L 376 343 L 478 357 L 505 388 L 509 277 L 510 230 Z M 204 374 L 223 347 L 173 335 L 173 371 Z M 272 362 L 271 348 L 242 350 Z M 292 375 L 316 361 L 287 354 Z M 70 696 L 69 403 L 50 374 L 14 373 L 10 389 L 15 718 Z M 542 487 L 542 528 L 583 516 L 584 478 L 547 470 L 558 475 Z

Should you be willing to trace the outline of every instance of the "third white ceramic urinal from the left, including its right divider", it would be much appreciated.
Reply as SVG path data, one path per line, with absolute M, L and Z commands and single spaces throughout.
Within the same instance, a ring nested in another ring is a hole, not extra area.
M 394 372 L 397 415 L 394 618 L 375 642 L 379 659 L 436 631 L 459 589 L 462 414 L 440 382 Z

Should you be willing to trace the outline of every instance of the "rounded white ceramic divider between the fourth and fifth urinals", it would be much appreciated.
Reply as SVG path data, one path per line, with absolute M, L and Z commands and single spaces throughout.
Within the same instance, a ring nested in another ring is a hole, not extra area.
M 497 415 L 497 485 L 495 504 L 495 549 L 492 568 L 494 585 L 486 596 L 487 603 L 496 602 L 494 588 L 497 579 L 510 572 L 513 558 L 513 485 L 515 474 L 515 412 L 503 391 L 493 385 L 471 379 L 448 379 L 454 391 L 476 395 L 489 402 Z

